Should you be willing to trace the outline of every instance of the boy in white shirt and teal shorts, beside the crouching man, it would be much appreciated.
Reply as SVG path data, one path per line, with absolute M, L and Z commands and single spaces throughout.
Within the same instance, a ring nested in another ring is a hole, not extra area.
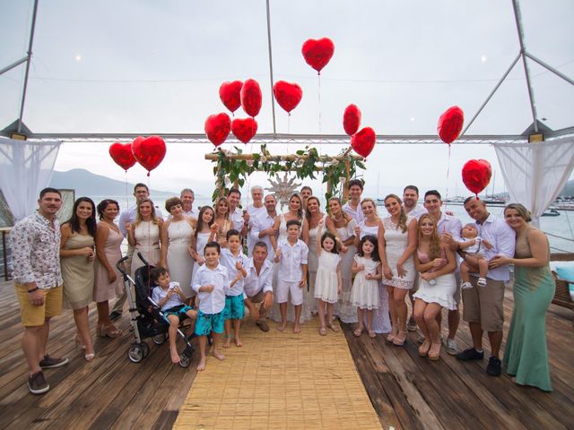
M 241 252 L 241 236 L 238 230 L 231 228 L 227 232 L 227 246 L 227 248 L 222 248 L 220 262 L 227 269 L 230 279 L 238 277 L 239 274 L 241 278 L 225 295 L 225 308 L 223 309 L 225 343 L 223 343 L 223 348 L 230 348 L 231 345 L 231 322 L 233 322 L 233 331 L 235 333 L 235 345 L 242 347 L 243 343 L 239 339 L 239 328 L 241 320 L 245 316 L 243 299 L 246 296 L 243 289 L 243 279 L 248 276 L 248 272 L 245 270 L 248 257 Z

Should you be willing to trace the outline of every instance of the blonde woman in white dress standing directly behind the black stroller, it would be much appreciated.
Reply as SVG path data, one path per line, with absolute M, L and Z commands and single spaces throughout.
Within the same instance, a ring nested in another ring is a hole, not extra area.
M 144 265 L 137 255 L 142 253 L 143 258 L 151 265 L 157 266 L 161 260 L 160 231 L 163 219 L 155 215 L 155 206 L 150 199 L 137 203 L 135 221 L 126 222 L 127 243 L 135 246 L 132 258 L 132 277 L 135 271 Z

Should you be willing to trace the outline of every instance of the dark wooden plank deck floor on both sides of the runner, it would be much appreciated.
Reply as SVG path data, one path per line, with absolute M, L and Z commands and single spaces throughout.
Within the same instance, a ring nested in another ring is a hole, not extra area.
M 172 366 L 167 345 L 151 347 L 149 357 L 133 364 L 126 350 L 133 333 L 116 340 L 97 339 L 91 363 L 74 348 L 70 311 L 52 324 L 49 352 L 70 357 L 68 366 L 45 372 L 52 389 L 29 393 L 20 340 L 22 325 L 12 282 L 0 283 L 0 428 L 171 428 L 196 376 Z M 512 295 L 507 291 L 507 324 Z M 404 348 L 382 338 L 359 340 L 349 326 L 345 336 L 381 426 L 389 428 L 574 428 L 574 331 L 571 311 L 552 305 L 548 313 L 554 391 L 518 387 L 508 376 L 491 378 L 483 363 L 463 364 L 443 352 L 438 363 L 417 355 L 412 341 Z M 91 306 L 91 323 L 95 310 Z M 124 316 L 118 326 L 128 326 Z M 96 338 L 94 338 L 96 339 Z M 458 342 L 470 341 L 461 323 Z

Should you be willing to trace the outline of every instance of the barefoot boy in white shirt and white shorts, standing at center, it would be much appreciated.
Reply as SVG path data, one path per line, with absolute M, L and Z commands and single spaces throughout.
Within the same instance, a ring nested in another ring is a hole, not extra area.
M 277 271 L 276 298 L 281 312 L 281 324 L 277 330 L 287 327 L 287 300 L 291 293 L 291 304 L 295 309 L 293 333 L 301 332 L 300 316 L 303 304 L 303 288 L 307 285 L 307 256 L 309 248 L 299 238 L 300 222 L 296 219 L 287 221 L 287 239 L 277 244 L 274 262 L 279 263 Z

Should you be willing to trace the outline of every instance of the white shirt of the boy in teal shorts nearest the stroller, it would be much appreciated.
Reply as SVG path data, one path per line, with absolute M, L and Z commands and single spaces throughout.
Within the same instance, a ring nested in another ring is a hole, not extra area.
M 199 288 L 213 285 L 213 291 L 199 291 Z M 225 307 L 225 295 L 230 290 L 230 277 L 222 264 L 210 269 L 205 263 L 199 266 L 192 282 L 192 288 L 199 297 L 199 310 L 204 314 L 219 314 Z

